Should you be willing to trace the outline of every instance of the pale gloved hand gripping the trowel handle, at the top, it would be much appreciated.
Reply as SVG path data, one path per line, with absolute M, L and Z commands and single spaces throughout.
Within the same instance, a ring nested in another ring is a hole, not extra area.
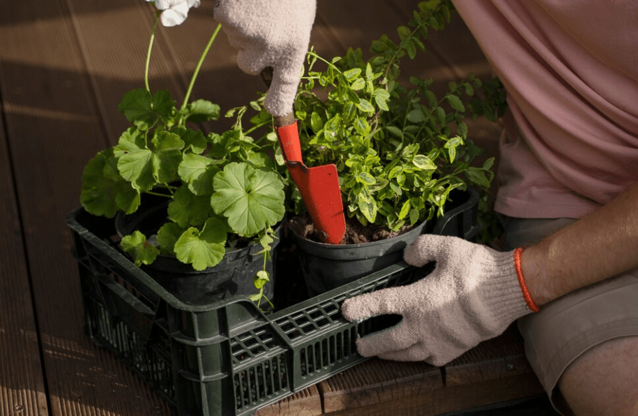
M 221 23 L 237 63 L 257 75 L 272 66 L 266 109 L 273 116 L 292 113 L 314 23 L 316 0 L 217 0 L 215 20 Z

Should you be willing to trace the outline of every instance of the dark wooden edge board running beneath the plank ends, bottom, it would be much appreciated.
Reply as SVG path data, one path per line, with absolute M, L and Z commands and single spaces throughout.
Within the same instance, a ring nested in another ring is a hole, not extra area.
M 528 397 L 538 382 L 526 376 L 434 389 L 380 404 L 327 413 L 330 416 L 435 416 Z

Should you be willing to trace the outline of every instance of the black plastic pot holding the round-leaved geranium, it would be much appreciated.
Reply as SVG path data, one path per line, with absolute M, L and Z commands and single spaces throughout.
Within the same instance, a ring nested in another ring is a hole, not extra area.
M 121 236 L 140 230 L 147 237 L 157 233 L 166 222 L 168 203 L 142 205 L 138 211 L 130 215 L 118 215 L 115 228 Z M 275 230 L 281 233 L 281 225 Z M 268 299 L 275 296 L 274 256 L 279 238 L 272 243 L 271 260 L 266 262 L 266 271 L 270 274 L 270 282 L 264 286 L 264 295 Z M 142 265 L 141 269 L 151 276 L 159 285 L 186 304 L 209 304 L 211 299 L 223 299 L 232 295 L 257 293 L 253 278 L 264 266 L 263 250 L 259 244 L 248 244 L 244 248 L 229 250 L 220 263 L 205 270 L 194 270 L 192 265 L 185 264 L 175 257 L 157 256 L 150 265 Z M 268 309 L 268 302 L 261 307 Z

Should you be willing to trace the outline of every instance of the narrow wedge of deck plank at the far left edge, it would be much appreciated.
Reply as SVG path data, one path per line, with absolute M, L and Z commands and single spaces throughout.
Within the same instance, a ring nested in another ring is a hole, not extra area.
M 0 109 L 4 112 L 1 103 Z M 39 336 L 10 168 L 0 118 L 0 403 L 10 413 L 45 415 L 49 409 Z

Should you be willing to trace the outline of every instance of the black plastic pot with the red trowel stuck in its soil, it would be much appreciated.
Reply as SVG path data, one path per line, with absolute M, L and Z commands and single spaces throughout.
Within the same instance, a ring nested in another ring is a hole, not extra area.
M 403 251 L 422 233 L 473 239 L 478 233 L 475 190 L 450 194 L 452 204 L 435 221 L 424 221 L 407 233 L 364 244 L 324 244 L 292 233 L 310 296 L 322 294 L 403 260 Z

